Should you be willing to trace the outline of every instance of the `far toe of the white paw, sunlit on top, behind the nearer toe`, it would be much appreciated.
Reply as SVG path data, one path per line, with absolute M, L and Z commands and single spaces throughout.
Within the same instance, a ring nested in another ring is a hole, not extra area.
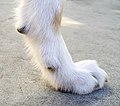
M 108 81 L 107 73 L 101 69 L 95 60 L 84 60 L 75 63 L 79 68 L 87 69 L 88 72 L 98 81 L 99 86 L 96 89 L 100 89 L 104 86 L 105 82 Z

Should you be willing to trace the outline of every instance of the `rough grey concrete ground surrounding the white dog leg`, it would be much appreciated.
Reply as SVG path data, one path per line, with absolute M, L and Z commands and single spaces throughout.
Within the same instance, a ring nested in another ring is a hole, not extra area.
M 120 0 L 65 1 L 62 33 L 75 61 L 96 59 L 110 82 L 89 95 L 52 90 L 25 55 L 14 0 L 0 0 L 0 106 L 120 106 Z

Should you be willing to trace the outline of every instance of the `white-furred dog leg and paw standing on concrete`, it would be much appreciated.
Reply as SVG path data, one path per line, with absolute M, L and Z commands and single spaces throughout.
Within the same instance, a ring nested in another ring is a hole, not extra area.
M 57 29 L 54 23 L 56 13 L 61 15 L 61 8 L 61 0 L 21 0 L 16 10 L 16 27 L 26 26 L 26 47 L 50 85 L 56 90 L 91 93 L 102 88 L 108 76 L 94 60 L 72 61 L 60 26 Z

